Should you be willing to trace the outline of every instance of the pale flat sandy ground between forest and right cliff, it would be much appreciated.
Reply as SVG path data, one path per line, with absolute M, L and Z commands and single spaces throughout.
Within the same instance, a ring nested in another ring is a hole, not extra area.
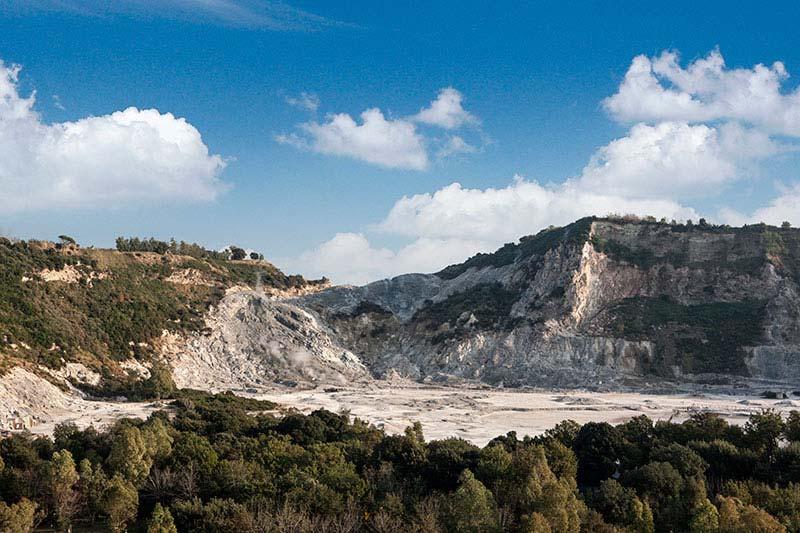
M 649 395 L 617 392 L 520 392 L 429 387 L 385 387 L 272 392 L 255 397 L 308 413 L 318 408 L 368 420 L 388 433 L 401 433 L 414 421 L 427 439 L 461 437 L 483 446 L 498 435 L 516 431 L 539 435 L 565 419 L 579 423 L 619 424 L 646 414 L 653 420 L 685 420 L 693 411 L 713 411 L 743 424 L 765 408 L 800 409 L 800 399 L 766 400 L 753 396 Z

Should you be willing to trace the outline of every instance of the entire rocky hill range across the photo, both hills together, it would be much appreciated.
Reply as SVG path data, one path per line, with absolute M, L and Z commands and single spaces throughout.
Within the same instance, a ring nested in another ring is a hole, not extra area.
M 586 218 L 327 289 L 260 260 L 0 240 L 0 369 L 95 394 L 159 360 L 202 389 L 800 383 L 799 279 L 800 231 L 764 225 Z

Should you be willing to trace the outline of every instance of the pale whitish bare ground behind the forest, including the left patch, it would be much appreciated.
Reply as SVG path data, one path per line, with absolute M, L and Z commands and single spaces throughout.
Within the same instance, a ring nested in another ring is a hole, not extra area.
M 326 392 L 327 390 L 327 392 Z M 765 408 L 800 408 L 800 399 L 766 400 L 722 394 L 644 394 L 633 392 L 519 391 L 421 386 L 373 382 L 341 388 L 262 390 L 242 393 L 308 413 L 325 408 L 349 411 L 388 433 L 401 433 L 414 421 L 428 439 L 461 437 L 478 445 L 516 431 L 538 435 L 565 419 L 618 424 L 646 414 L 654 420 L 684 420 L 692 411 L 721 414 L 732 423 Z M 36 434 L 51 434 L 58 423 L 102 428 L 122 417 L 144 418 L 164 404 L 89 401 L 41 377 L 16 368 L 0 379 L 0 418 L 18 411 L 30 415 Z M 284 409 L 285 410 L 285 409 Z

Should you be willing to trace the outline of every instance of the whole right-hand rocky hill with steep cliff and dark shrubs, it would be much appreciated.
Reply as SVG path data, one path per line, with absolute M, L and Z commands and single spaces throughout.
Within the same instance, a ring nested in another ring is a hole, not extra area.
M 378 377 L 800 381 L 800 231 L 586 218 L 296 298 Z

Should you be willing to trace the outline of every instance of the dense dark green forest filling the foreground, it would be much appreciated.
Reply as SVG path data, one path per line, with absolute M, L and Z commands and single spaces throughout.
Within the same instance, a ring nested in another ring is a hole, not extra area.
M 479 448 L 181 391 L 148 420 L 0 440 L 0 530 L 800 530 L 800 413 L 565 421 Z

